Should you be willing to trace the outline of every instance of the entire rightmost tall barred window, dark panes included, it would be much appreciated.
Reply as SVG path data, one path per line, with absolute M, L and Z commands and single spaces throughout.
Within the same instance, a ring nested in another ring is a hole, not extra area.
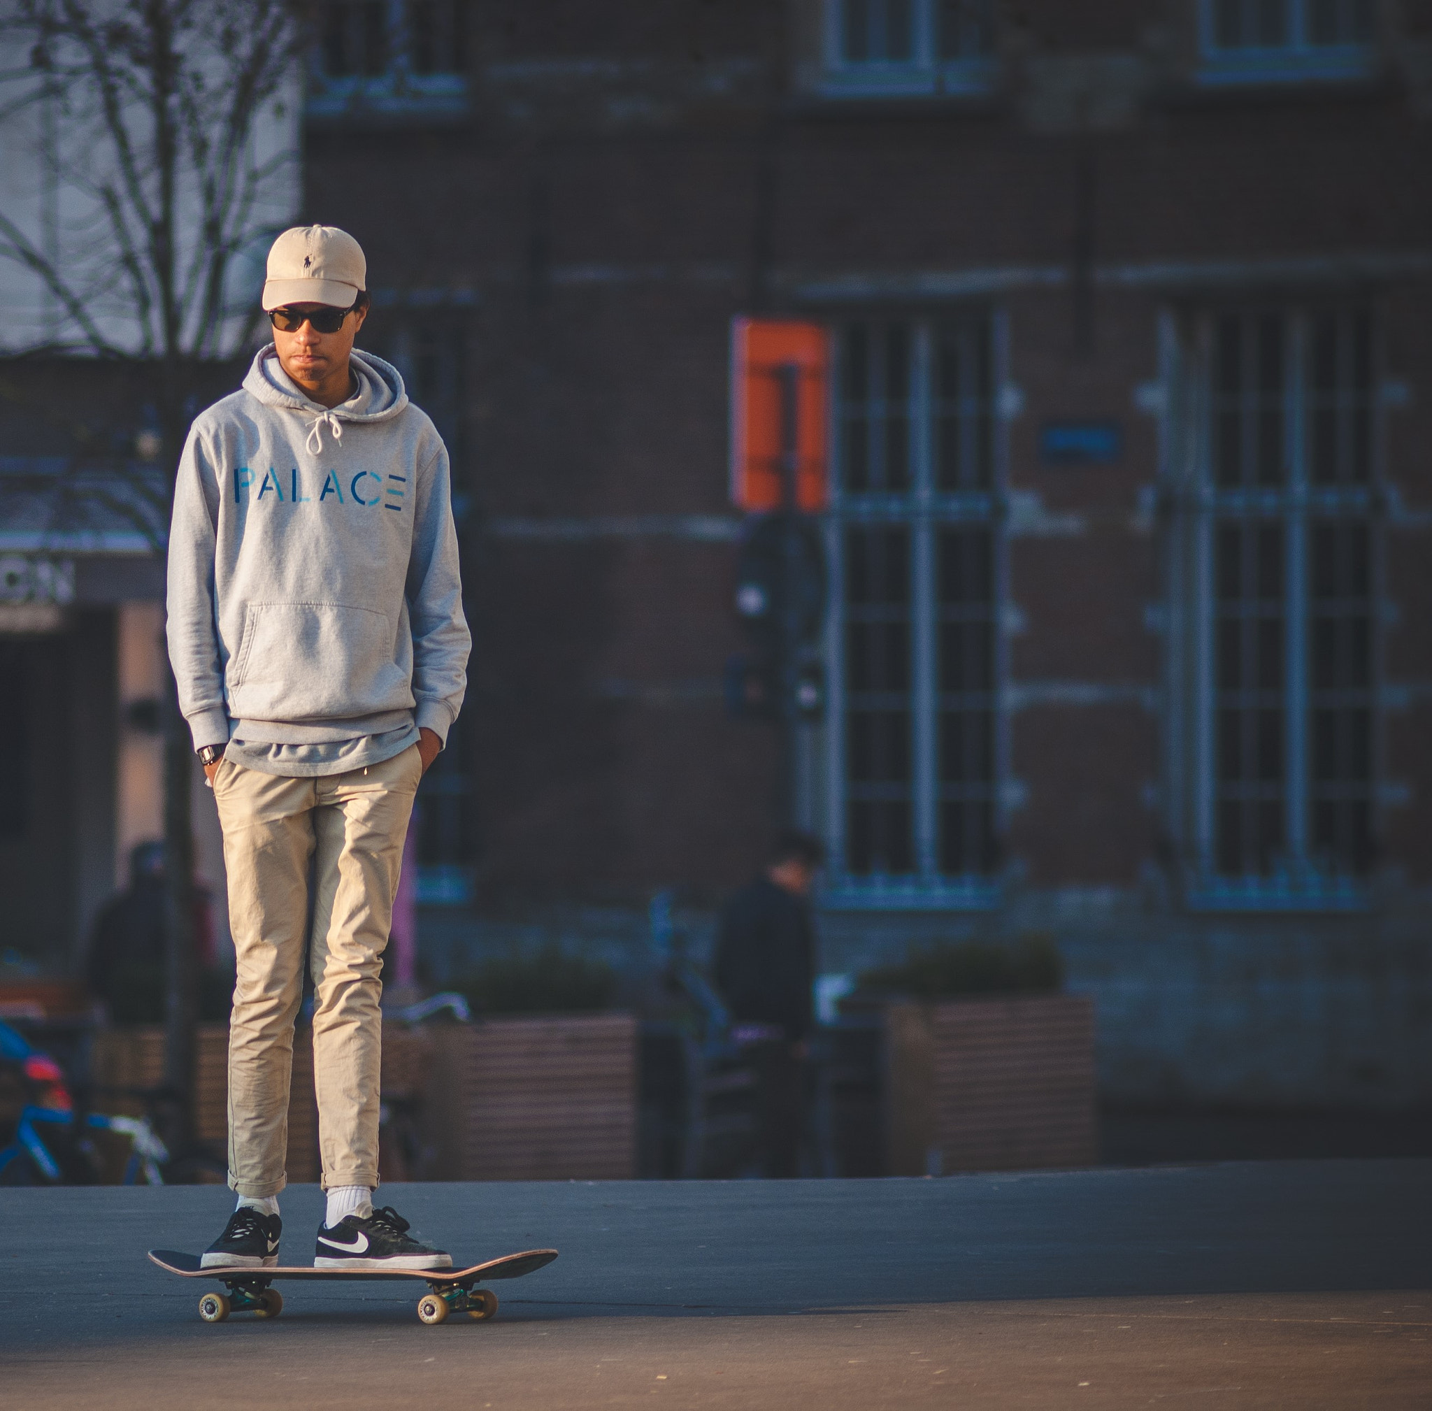
M 1203 453 L 1176 533 L 1196 599 L 1190 898 L 1360 904 L 1376 776 L 1372 317 L 1230 311 L 1197 344 Z

